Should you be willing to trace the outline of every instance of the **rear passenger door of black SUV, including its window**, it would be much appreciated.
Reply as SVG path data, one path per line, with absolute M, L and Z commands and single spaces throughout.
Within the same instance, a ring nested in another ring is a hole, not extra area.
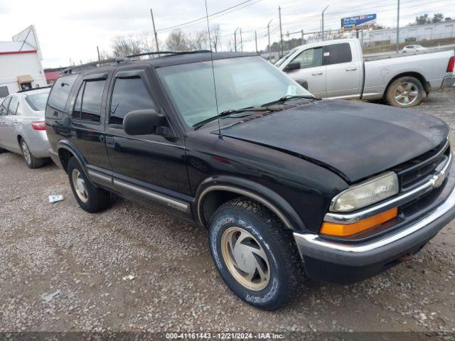
M 109 173 L 111 166 L 105 147 L 107 89 L 112 72 L 90 73 L 77 85 L 71 108 L 70 141 L 87 161 L 88 168 Z

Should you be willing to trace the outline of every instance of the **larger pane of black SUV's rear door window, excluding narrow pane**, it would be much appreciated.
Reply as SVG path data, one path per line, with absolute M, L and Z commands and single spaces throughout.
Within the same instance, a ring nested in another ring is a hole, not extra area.
M 100 122 L 102 92 L 105 89 L 105 82 L 105 80 L 85 82 L 80 119 Z

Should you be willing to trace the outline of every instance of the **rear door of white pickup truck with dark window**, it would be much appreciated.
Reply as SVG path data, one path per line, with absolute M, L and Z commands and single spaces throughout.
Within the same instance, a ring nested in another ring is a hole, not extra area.
M 339 43 L 324 46 L 327 97 L 360 98 L 359 56 L 355 43 Z

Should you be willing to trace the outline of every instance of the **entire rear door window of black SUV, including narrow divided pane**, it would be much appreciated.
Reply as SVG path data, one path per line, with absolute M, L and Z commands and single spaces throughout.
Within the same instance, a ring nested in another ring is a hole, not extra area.
M 73 119 L 96 123 L 101 121 L 102 92 L 105 83 L 105 80 L 82 83 L 74 105 Z

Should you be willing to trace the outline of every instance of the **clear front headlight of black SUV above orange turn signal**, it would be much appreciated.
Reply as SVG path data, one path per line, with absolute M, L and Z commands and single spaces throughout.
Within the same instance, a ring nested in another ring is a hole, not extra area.
M 333 198 L 331 211 L 350 212 L 380 202 L 398 193 L 398 177 L 393 172 L 354 185 Z

